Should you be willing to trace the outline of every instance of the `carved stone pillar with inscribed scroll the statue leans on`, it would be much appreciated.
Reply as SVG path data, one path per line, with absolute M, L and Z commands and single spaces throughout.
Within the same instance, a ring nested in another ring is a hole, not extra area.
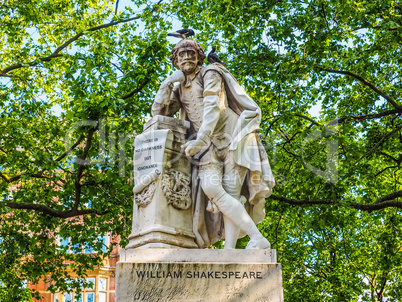
M 156 116 L 134 142 L 133 227 L 126 248 L 197 248 L 191 164 L 181 152 L 189 122 Z

